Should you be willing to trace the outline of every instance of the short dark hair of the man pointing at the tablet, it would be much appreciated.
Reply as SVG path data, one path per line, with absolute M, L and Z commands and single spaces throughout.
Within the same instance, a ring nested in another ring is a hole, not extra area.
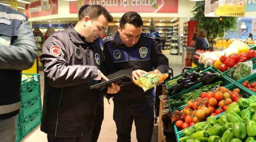
M 108 22 L 113 21 L 113 17 L 102 5 L 90 5 L 87 8 L 85 8 L 79 16 L 79 21 L 82 21 L 85 16 L 89 16 L 91 20 L 95 20 L 99 18 L 101 14 L 103 14 L 103 16 L 106 17 Z

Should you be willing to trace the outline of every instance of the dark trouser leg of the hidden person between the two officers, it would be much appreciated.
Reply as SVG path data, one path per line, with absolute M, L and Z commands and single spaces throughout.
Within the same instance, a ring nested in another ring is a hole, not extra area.
M 92 129 L 92 142 L 97 142 L 99 138 L 103 119 L 104 119 L 104 101 L 100 100 L 96 108 L 95 121 Z

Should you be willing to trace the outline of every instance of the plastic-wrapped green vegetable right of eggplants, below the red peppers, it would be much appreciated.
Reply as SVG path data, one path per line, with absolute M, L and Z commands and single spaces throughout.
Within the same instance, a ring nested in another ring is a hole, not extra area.
M 239 80 L 252 73 L 252 61 L 238 63 L 236 65 L 236 71 L 234 72 L 234 80 Z

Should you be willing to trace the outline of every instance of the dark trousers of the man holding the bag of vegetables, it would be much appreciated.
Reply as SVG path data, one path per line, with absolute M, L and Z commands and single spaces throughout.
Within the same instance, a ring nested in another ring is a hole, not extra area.
M 154 127 L 154 106 L 148 102 L 128 105 L 114 101 L 114 121 L 116 123 L 117 142 L 131 142 L 134 120 L 138 142 L 150 142 Z

